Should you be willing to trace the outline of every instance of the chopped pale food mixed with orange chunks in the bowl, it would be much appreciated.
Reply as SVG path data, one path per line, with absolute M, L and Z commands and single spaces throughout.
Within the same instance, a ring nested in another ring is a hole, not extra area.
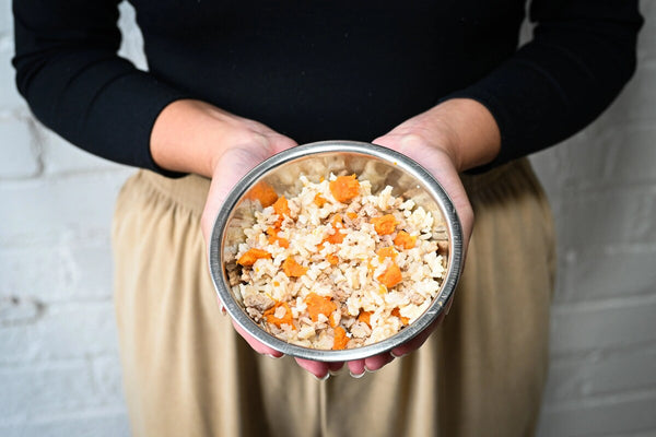
M 328 175 L 279 196 L 265 182 L 246 197 L 254 223 L 226 250 L 235 296 L 265 331 L 309 349 L 388 339 L 438 295 L 448 257 L 444 218 L 386 186 Z

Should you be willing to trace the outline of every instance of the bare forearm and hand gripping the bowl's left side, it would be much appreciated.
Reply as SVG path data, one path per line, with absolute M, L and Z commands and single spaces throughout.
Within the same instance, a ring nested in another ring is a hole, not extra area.
M 151 153 L 163 168 L 211 178 L 201 216 L 209 245 L 214 218 L 234 185 L 269 156 L 296 142 L 267 126 L 198 101 L 177 101 L 157 117 L 151 134 Z M 221 303 L 219 303 L 221 306 Z M 258 342 L 233 320 L 235 330 L 260 354 L 282 353 Z

